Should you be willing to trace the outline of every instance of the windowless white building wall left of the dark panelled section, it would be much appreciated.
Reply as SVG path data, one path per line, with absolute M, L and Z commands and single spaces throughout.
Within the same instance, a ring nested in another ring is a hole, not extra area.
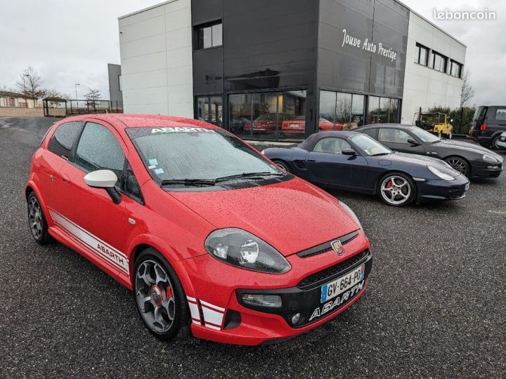
M 119 18 L 125 113 L 193 118 L 190 0 Z

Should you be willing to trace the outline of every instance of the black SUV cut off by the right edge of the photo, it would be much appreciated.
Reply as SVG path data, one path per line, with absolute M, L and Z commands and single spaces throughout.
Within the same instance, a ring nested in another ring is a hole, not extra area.
M 506 131 L 506 105 L 483 105 L 476 109 L 469 135 L 480 145 L 499 149 L 500 135 Z

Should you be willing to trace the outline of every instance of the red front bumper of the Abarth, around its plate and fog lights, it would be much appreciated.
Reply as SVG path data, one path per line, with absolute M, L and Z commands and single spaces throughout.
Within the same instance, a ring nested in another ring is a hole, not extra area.
M 358 255 L 360 259 L 353 258 Z M 209 254 L 177 262 L 185 267 L 178 267 L 176 271 L 186 270 L 188 286 L 193 287 L 191 291 L 183 282 L 192 314 L 193 335 L 220 343 L 260 345 L 305 333 L 336 317 L 361 298 L 372 268 L 369 241 L 362 230 L 344 245 L 341 257 L 329 248 L 306 258 L 297 254 L 286 258 L 292 270 L 279 275 L 242 270 L 223 264 Z M 347 295 L 345 292 L 320 302 L 323 284 L 361 265 L 365 266 L 363 279 L 347 288 Z M 242 293 L 280 295 L 283 306 L 247 305 L 242 301 Z M 296 313 L 301 314 L 303 321 L 293 325 L 291 320 Z

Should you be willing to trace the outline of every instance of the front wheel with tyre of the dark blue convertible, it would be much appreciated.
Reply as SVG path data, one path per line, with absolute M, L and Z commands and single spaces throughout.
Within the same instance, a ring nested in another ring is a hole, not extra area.
M 387 173 L 380 180 L 380 199 L 390 206 L 407 206 L 416 195 L 415 182 L 403 173 Z

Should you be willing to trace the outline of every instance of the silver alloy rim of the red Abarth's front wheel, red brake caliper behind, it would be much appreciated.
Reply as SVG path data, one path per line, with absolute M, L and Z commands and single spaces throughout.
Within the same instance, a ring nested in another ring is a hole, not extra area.
M 164 267 L 155 260 L 144 260 L 137 268 L 135 291 L 145 324 L 156 333 L 167 333 L 174 324 L 176 302 Z

